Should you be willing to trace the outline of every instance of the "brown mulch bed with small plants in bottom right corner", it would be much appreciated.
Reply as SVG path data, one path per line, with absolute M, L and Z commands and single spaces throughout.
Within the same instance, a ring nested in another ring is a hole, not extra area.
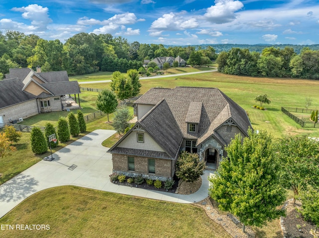
M 315 225 L 310 222 L 305 222 L 304 217 L 298 212 L 301 209 L 302 203 L 296 201 L 293 204 L 293 199 L 287 201 L 286 217 L 283 218 L 283 226 L 286 230 L 286 238 L 313 238 L 310 234 L 311 230 L 315 230 Z M 319 234 L 318 234 L 319 236 Z

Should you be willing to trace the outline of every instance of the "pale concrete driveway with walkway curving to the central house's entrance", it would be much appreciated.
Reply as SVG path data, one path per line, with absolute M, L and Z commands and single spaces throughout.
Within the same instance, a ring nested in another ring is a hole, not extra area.
M 210 171 L 202 176 L 200 189 L 190 195 L 146 190 L 111 183 L 112 156 L 101 143 L 116 131 L 95 130 L 53 154 L 54 160 L 41 160 L 0 186 L 0 218 L 28 196 L 43 189 L 75 185 L 102 191 L 177 203 L 193 203 L 208 196 Z

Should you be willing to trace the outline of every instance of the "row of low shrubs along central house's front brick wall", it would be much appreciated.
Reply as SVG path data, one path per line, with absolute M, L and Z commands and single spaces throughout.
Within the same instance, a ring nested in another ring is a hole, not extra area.
M 142 184 L 144 183 L 144 181 L 150 185 L 150 186 L 154 186 L 156 188 L 161 188 L 164 185 L 165 189 L 171 189 L 175 183 L 174 180 L 172 179 L 167 179 L 165 182 L 161 182 L 160 180 L 152 180 L 152 179 L 144 179 L 142 175 L 138 175 L 137 177 L 126 177 L 124 174 L 118 174 L 118 173 L 112 173 L 110 175 L 110 180 L 112 182 L 116 182 L 119 181 L 120 183 L 125 182 L 125 180 L 128 183 L 135 183 L 135 184 Z

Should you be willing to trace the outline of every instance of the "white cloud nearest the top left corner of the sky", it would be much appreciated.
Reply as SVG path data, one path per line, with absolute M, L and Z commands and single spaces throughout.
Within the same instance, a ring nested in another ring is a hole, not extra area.
M 31 25 L 36 27 L 38 31 L 44 31 L 47 25 L 52 22 L 49 18 L 47 7 L 42 7 L 38 4 L 30 4 L 28 6 L 13 7 L 11 10 L 23 12 L 22 17 L 30 20 Z

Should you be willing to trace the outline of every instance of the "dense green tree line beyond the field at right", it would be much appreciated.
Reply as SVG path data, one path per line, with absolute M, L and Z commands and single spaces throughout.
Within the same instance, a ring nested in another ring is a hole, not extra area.
M 218 71 L 224 74 L 258 77 L 319 79 L 319 50 L 305 47 L 300 54 L 293 48 L 267 47 L 262 53 L 233 48 L 217 58 Z

